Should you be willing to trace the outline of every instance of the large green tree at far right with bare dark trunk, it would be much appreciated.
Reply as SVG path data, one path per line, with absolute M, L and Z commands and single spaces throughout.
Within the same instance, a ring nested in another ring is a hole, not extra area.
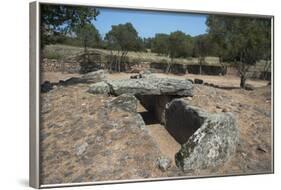
M 208 32 L 216 38 L 228 56 L 238 63 L 240 87 L 245 88 L 247 72 L 250 65 L 256 64 L 264 56 L 264 47 L 268 43 L 265 28 L 270 28 L 270 19 L 209 16 L 207 19 Z

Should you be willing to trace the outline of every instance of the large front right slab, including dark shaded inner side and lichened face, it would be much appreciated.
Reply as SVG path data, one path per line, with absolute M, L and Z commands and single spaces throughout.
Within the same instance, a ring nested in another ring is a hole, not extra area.
M 176 165 L 184 172 L 216 169 L 235 153 L 239 131 L 231 113 L 207 113 L 173 100 L 166 109 L 166 129 L 182 144 Z

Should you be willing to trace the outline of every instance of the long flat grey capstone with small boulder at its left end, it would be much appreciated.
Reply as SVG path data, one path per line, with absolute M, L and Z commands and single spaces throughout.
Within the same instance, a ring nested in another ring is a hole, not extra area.
M 193 96 L 193 86 L 188 80 L 145 77 L 139 79 L 107 80 L 105 83 L 108 86 L 103 85 L 104 88 L 108 89 L 109 87 L 110 94 L 115 96 L 121 94 Z M 100 87 L 99 83 L 95 83 L 90 86 L 88 92 L 99 94 L 101 92 Z

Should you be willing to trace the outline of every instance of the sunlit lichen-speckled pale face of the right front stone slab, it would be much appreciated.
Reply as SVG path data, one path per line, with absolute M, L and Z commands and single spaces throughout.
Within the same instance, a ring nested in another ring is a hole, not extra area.
M 210 115 L 182 145 L 176 164 L 185 172 L 215 169 L 231 158 L 238 141 L 239 131 L 231 113 Z

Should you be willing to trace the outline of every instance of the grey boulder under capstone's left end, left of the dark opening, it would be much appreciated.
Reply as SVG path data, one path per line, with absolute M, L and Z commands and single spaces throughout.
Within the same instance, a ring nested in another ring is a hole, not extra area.
M 122 94 L 107 103 L 107 107 L 118 107 L 127 112 L 137 112 L 138 99 L 131 94 Z

